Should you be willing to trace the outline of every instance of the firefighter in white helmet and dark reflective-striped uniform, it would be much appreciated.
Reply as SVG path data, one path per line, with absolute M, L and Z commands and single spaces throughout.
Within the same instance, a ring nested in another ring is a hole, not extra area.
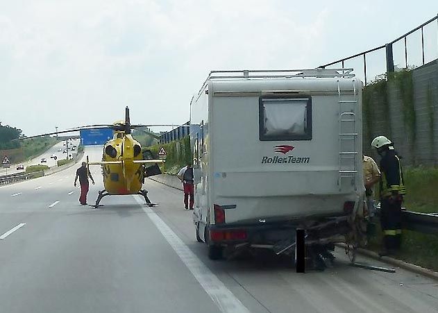
M 380 225 L 384 247 L 379 255 L 394 254 L 401 245 L 401 203 L 406 194 L 401 162 L 394 144 L 385 136 L 373 139 L 371 146 L 380 155 Z

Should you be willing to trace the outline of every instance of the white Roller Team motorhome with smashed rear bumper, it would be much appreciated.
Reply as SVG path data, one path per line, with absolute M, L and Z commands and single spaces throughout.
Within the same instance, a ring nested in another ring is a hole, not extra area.
M 212 71 L 190 108 L 196 238 L 224 247 L 343 241 L 360 208 L 362 83 L 352 69 Z

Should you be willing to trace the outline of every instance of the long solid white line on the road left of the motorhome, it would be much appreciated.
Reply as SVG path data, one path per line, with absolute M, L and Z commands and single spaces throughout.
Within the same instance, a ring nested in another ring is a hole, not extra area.
M 167 224 L 149 208 L 143 208 L 144 202 L 137 196 L 135 201 L 142 206 L 142 209 L 148 214 L 149 219 L 155 224 L 155 227 L 160 230 L 161 235 L 165 237 L 174 251 L 180 257 L 187 269 L 192 272 L 192 275 L 205 292 L 212 298 L 212 301 L 219 307 L 219 310 L 224 313 L 249 313 L 249 310 L 239 301 L 238 298 L 228 289 L 219 278 L 217 278 L 208 267 L 199 260 L 189 247 L 176 235 L 176 233 L 167 226 Z

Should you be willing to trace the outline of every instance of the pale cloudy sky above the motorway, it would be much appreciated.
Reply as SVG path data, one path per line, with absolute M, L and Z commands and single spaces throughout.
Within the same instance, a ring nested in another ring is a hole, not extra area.
M 436 0 L 0 0 L 0 121 L 36 135 L 111 124 L 128 105 L 133 124 L 179 125 L 211 70 L 314 68 L 437 14 Z M 437 25 L 425 29 L 426 62 Z M 421 62 L 419 36 L 408 46 Z M 384 56 L 367 59 L 369 79 Z M 394 56 L 403 67 L 404 47 Z M 346 66 L 363 77 L 361 62 Z

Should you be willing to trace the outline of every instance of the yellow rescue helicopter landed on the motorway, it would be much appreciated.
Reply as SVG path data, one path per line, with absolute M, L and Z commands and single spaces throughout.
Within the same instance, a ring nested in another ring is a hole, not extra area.
M 90 162 L 87 156 L 87 169 L 90 171 L 90 165 L 101 165 L 103 175 L 103 185 L 105 189 L 99 191 L 94 208 L 100 206 L 100 202 L 105 196 L 121 196 L 128 194 L 140 194 L 144 197 L 146 205 L 153 207 L 156 203 L 151 203 L 147 196 L 147 190 L 142 189 L 146 177 L 161 174 L 158 163 L 165 160 L 153 158 L 151 151 L 142 152 L 142 146 L 131 135 L 132 129 L 152 126 L 173 126 L 169 124 L 160 125 L 131 125 L 129 117 L 129 108 L 125 108 L 125 120 L 116 121 L 114 124 L 96 124 L 70 128 L 68 130 L 56 131 L 31 137 L 22 137 L 20 139 L 29 139 L 41 137 L 44 135 L 57 135 L 60 133 L 71 133 L 85 129 L 110 128 L 114 130 L 112 139 L 109 139 L 103 146 L 102 160 L 99 162 Z M 149 133 L 149 135 L 158 138 L 158 136 Z M 146 165 L 152 164 L 149 167 Z

